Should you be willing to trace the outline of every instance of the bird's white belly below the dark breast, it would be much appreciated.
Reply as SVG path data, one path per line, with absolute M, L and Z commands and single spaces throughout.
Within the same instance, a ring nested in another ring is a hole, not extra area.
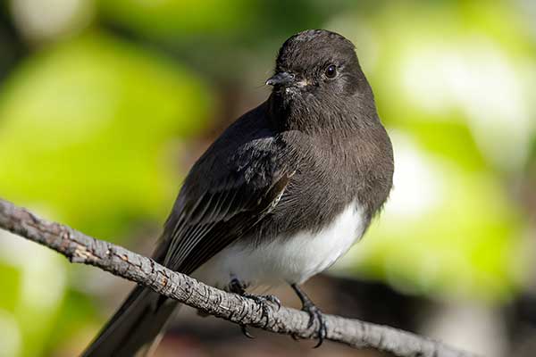
M 249 286 L 303 283 L 346 253 L 363 235 L 364 226 L 363 208 L 352 203 L 318 232 L 301 231 L 256 246 L 238 241 L 206 262 L 194 277 L 220 287 L 227 286 L 231 278 Z

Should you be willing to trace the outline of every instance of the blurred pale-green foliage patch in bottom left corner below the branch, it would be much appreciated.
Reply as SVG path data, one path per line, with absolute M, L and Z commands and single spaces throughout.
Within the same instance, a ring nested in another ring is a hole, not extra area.
M 45 354 L 63 313 L 64 267 L 58 254 L 0 232 L 0 356 Z

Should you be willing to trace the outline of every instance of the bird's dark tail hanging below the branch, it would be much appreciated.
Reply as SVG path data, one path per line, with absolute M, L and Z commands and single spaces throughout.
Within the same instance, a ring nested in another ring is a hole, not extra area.
M 83 357 L 130 357 L 148 353 L 178 303 L 137 286 L 115 312 Z

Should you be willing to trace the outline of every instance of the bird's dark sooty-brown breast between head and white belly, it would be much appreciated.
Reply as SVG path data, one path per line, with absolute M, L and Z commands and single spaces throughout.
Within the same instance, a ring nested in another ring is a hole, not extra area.
M 256 242 L 320 231 L 352 203 L 363 209 L 368 226 L 392 186 L 392 148 L 379 122 L 342 138 L 289 131 L 279 140 L 283 160 L 296 171 L 280 202 L 252 231 Z

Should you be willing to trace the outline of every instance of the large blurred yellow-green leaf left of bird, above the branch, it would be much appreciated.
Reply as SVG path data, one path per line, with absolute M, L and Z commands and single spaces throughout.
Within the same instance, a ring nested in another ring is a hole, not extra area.
M 180 179 L 165 143 L 206 125 L 213 99 L 179 65 L 103 34 L 47 48 L 0 93 L 0 187 L 100 237 L 158 219 Z

